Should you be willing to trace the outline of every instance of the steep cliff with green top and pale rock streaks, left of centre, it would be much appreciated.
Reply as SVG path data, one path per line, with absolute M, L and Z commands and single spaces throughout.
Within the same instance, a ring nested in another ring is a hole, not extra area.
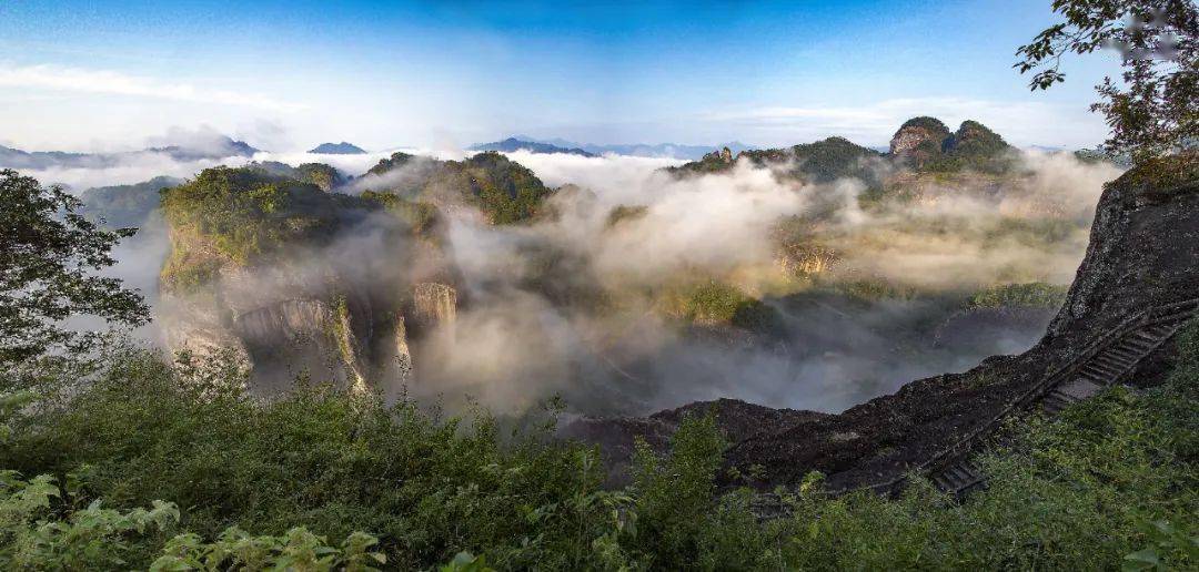
M 171 189 L 159 304 L 168 346 L 231 351 L 267 393 L 305 373 L 356 390 L 410 383 L 405 322 L 452 320 L 457 294 L 436 214 L 394 199 L 330 195 L 253 168 Z M 444 282 L 414 285 L 421 276 Z

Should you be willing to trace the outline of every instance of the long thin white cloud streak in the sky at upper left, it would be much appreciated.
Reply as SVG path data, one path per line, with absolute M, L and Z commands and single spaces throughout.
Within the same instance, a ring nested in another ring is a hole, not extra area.
M 283 112 L 302 111 L 308 108 L 301 103 L 273 99 L 260 93 L 210 90 L 195 87 L 186 83 L 162 81 L 155 78 L 128 75 L 108 69 L 84 69 L 50 65 L 0 65 L 0 86 L 152 97 L 191 103 L 239 105 Z

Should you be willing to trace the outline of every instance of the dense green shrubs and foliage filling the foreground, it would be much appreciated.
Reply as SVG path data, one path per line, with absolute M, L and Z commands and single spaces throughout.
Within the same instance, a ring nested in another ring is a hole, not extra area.
M 7 407 L 0 566 L 1193 568 L 1199 325 L 1179 346 L 1161 388 L 1013 426 L 982 461 L 990 488 L 962 504 L 927 482 L 830 499 L 812 475 L 769 522 L 751 492 L 718 494 L 710 416 L 603 491 L 597 451 L 548 424 L 510 432 L 323 387 L 255 402 L 221 360 L 126 347 L 70 398 Z

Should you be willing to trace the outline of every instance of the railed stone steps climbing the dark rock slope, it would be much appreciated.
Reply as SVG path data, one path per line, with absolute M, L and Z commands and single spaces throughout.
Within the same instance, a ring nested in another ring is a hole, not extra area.
M 1129 329 L 1102 343 L 1089 359 L 1056 372 L 1053 377 L 1058 379 L 1041 394 L 1036 403 L 1044 413 L 1056 415 L 1119 383 L 1137 364 L 1181 329 L 1195 312 L 1197 305 L 1195 300 L 1191 300 L 1145 314 Z M 941 492 L 958 498 L 987 486 L 986 475 L 971 462 L 969 455 L 933 471 L 930 477 Z

